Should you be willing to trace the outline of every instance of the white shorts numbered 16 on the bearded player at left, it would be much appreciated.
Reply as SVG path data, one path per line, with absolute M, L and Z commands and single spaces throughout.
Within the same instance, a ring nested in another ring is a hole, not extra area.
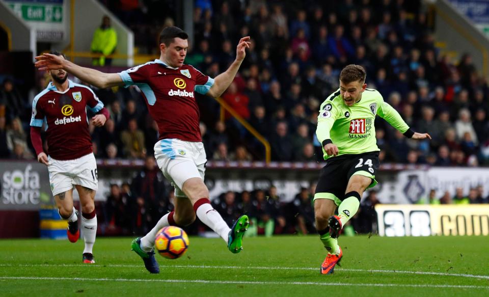
M 93 153 L 73 160 L 55 160 L 48 156 L 52 195 L 69 191 L 73 185 L 98 190 L 97 163 Z

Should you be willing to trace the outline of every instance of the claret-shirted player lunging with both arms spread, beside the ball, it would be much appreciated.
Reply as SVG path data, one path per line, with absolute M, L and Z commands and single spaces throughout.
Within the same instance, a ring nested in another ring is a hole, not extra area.
M 242 215 L 229 226 L 212 208 L 204 184 L 207 161 L 199 128 L 199 108 L 195 93 L 219 97 L 233 81 L 250 46 L 250 37 L 239 40 L 236 59 L 229 68 L 211 78 L 191 65 L 183 64 L 188 35 L 177 27 L 167 27 L 159 36 L 160 58 L 121 73 L 102 73 L 80 67 L 57 56 L 36 57 L 39 69 L 64 69 L 98 88 L 137 85 L 145 98 L 149 113 L 158 124 L 159 141 L 154 156 L 159 169 L 175 185 L 175 211 L 162 217 L 142 238 L 135 238 L 131 248 L 144 261 L 150 273 L 159 273 L 154 258 L 154 239 L 165 226 L 187 226 L 197 217 L 226 242 L 232 253 L 242 249 L 242 235 L 249 219 Z

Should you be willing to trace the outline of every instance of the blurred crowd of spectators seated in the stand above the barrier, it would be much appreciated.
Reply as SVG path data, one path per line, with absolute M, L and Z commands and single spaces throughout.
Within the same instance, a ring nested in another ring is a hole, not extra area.
M 130 28 L 139 28 L 141 13 L 150 13 L 145 3 L 115 12 Z M 112 2 L 105 4 L 111 7 Z M 148 18 L 142 24 L 154 28 L 155 21 Z M 173 23 L 165 19 L 158 25 Z M 194 23 L 195 38 L 186 63 L 210 76 L 226 70 L 234 60 L 240 37 L 252 37 L 247 57 L 223 99 L 269 141 L 273 160 L 321 159 L 315 138 L 319 104 L 337 90 L 342 67 L 355 63 L 367 70 L 369 87 L 379 90 L 411 127 L 432 137 L 430 142 L 412 142 L 377 118 L 381 161 L 489 164 L 487 82 L 478 75 L 470 54 L 454 62 L 434 46 L 419 1 L 196 1 Z M 146 44 L 135 42 L 137 47 Z M 151 47 L 157 49 L 154 44 Z M 158 132 L 138 87 L 96 93 L 110 110 L 111 120 L 102 128 L 91 129 L 95 155 L 151 155 Z M 262 144 L 233 117 L 226 114 L 225 121 L 220 121 L 218 103 L 205 96 L 197 100 L 208 159 L 264 159 Z M 24 131 L 28 129 L 28 105 L 6 79 L 0 92 L 0 137 L 11 138 L 7 131 L 16 126 L 15 118 L 22 121 Z M 22 138 L 17 135 L 20 132 L 13 132 L 16 140 Z M 2 157 L 32 155 L 25 141 L 10 140 L 2 146 Z

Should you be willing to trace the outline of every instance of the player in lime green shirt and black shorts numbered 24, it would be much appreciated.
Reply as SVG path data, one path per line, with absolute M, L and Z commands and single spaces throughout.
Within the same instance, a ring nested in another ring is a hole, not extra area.
M 365 84 L 365 69 L 348 65 L 340 73 L 340 88 L 322 102 L 316 136 L 326 160 L 314 194 L 316 229 L 328 255 L 322 274 L 332 274 L 343 252 L 338 246 L 341 229 L 358 210 L 363 192 L 377 184 L 379 167 L 375 116 L 411 139 L 431 139 L 402 120 L 382 95 Z M 335 215 L 335 210 L 338 214 Z

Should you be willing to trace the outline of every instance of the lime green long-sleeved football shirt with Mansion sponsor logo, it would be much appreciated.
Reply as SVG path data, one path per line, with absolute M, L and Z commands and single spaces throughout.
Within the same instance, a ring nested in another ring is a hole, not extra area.
M 401 133 L 409 129 L 399 113 L 377 90 L 366 89 L 362 99 L 352 106 L 344 103 L 340 89 L 324 100 L 317 117 L 316 136 L 322 144 L 331 139 L 338 147 L 338 155 L 378 151 L 375 139 L 375 116 L 384 118 Z M 324 159 L 330 156 L 322 148 Z

